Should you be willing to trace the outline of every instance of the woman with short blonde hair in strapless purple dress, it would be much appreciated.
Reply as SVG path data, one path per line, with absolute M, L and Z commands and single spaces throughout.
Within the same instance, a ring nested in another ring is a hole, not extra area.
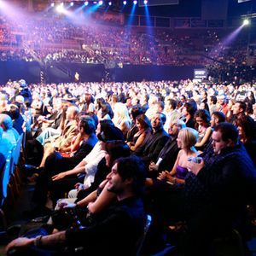
M 167 224 L 181 217 L 180 200 L 183 196 L 184 178 L 189 172 L 187 168 L 189 160 L 198 155 L 195 149 L 197 139 L 198 132 L 195 129 L 186 127 L 180 130 L 177 136 L 177 146 L 181 150 L 177 154 L 172 171 L 160 172 L 159 177 L 146 179 L 145 205 L 153 218 L 157 219 L 157 225 L 160 228 L 166 227 Z

